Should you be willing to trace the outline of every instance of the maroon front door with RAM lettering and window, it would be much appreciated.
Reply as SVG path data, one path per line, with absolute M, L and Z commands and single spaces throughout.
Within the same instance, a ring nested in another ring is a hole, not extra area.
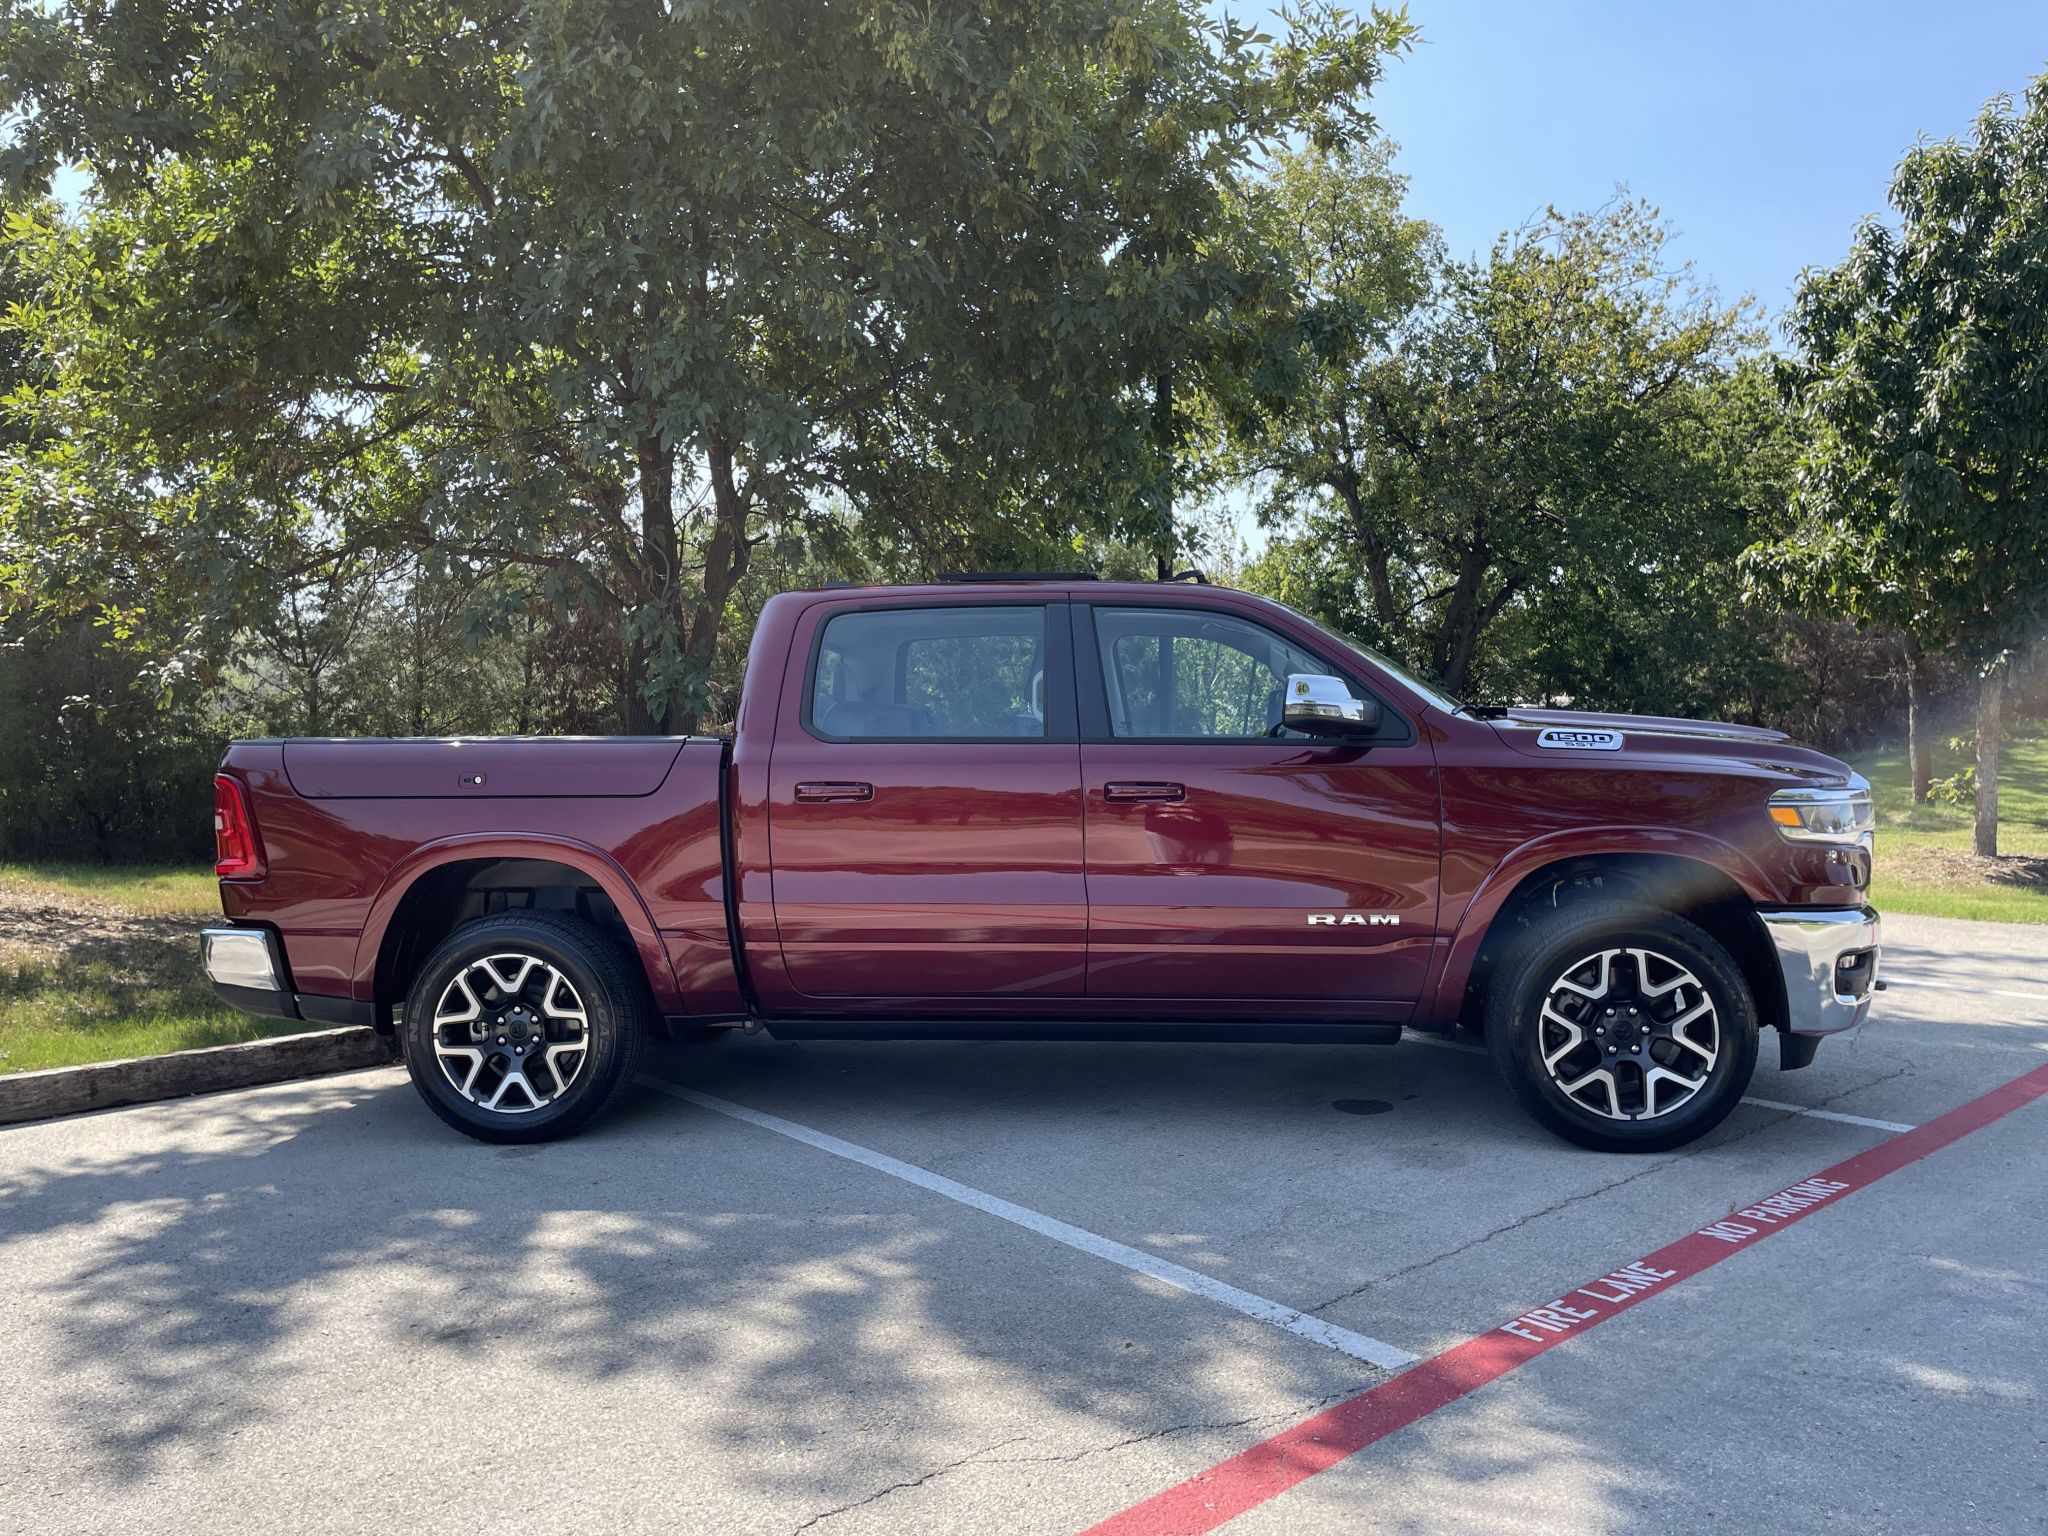
M 1386 700 L 1370 745 L 1280 727 L 1288 674 L 1364 684 L 1251 616 L 1075 606 L 1087 993 L 1421 997 L 1436 938 L 1436 758 Z

